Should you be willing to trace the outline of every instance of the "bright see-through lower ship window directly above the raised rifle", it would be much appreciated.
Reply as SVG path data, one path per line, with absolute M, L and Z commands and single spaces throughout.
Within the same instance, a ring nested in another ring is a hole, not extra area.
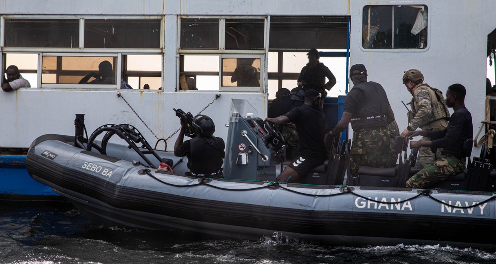
M 179 90 L 219 91 L 219 55 L 181 55 Z

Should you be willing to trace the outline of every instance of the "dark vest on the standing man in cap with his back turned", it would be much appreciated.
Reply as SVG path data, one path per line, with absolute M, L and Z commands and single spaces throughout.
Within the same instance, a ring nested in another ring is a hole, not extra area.
M 382 86 L 374 82 L 364 82 L 355 85 L 353 90 L 355 89 L 361 91 L 364 95 L 365 104 L 358 107 L 357 112 L 351 118 L 351 127 L 353 130 L 386 127 L 386 112 L 389 103 Z

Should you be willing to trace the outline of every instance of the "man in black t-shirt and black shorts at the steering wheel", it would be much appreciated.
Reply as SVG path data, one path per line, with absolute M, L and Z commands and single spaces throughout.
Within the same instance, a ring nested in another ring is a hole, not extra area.
M 303 106 L 296 107 L 276 118 L 265 118 L 265 121 L 276 125 L 294 123 L 300 140 L 298 156 L 279 174 L 276 181 L 295 182 L 305 177 L 312 168 L 324 162 L 326 154 L 324 136 L 327 124 L 324 112 L 319 107 L 320 97 L 319 92 L 308 90 L 305 93 Z

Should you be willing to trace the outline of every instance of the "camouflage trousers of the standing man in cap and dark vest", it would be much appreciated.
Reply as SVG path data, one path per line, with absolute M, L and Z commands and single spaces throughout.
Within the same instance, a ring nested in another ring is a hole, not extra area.
M 351 173 L 357 175 L 360 166 L 394 167 L 398 156 L 391 154 L 390 144 L 393 139 L 393 134 L 388 128 L 361 129 L 353 132 L 350 150 Z

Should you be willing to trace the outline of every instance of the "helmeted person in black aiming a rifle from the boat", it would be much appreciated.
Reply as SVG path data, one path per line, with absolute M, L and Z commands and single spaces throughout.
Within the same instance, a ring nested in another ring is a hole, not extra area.
M 181 118 L 181 131 L 174 145 L 176 157 L 187 157 L 189 172 L 186 175 L 197 178 L 222 178 L 222 164 L 225 156 L 224 140 L 214 137 L 215 124 L 206 115 L 199 114 L 194 117 L 192 129 L 195 137 L 183 142 L 186 123 Z

